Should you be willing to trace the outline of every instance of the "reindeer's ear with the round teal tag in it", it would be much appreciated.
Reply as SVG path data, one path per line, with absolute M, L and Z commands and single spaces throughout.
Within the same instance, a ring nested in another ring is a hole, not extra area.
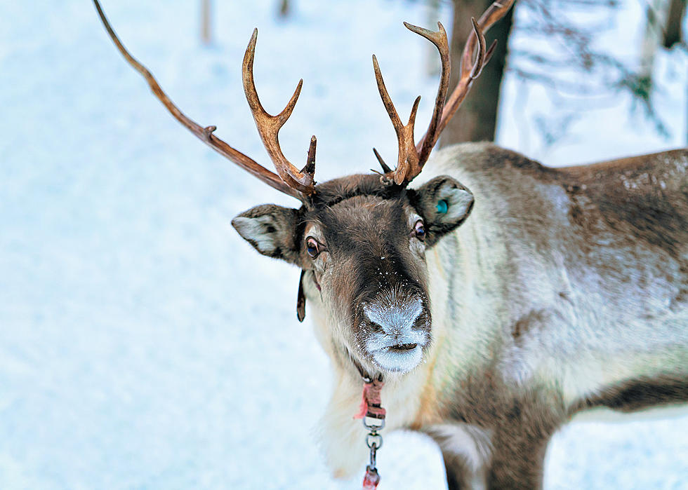
M 432 246 L 465 221 L 473 207 L 473 194 L 458 180 L 441 175 L 416 189 L 415 205 L 425 220 L 425 243 Z

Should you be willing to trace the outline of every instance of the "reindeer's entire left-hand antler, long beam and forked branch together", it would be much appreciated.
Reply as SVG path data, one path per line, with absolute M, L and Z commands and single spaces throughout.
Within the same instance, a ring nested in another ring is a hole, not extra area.
M 272 158 L 279 175 L 270 172 L 270 170 L 267 170 L 263 165 L 260 165 L 249 156 L 230 147 L 230 145 L 222 139 L 213 135 L 213 131 L 217 129 L 216 126 L 210 125 L 203 127 L 180 111 L 159 86 L 151 72 L 126 50 L 119 40 L 119 37 L 117 37 L 117 34 L 115 34 L 110 26 L 110 22 L 107 21 L 98 0 L 93 0 L 93 4 L 95 4 L 95 9 L 98 11 L 98 15 L 100 16 L 100 20 L 102 20 L 102 24 L 105 26 L 105 30 L 107 30 L 107 34 L 110 35 L 110 39 L 112 39 L 114 45 L 117 46 L 117 49 L 121 55 L 124 56 L 124 59 L 146 79 L 154 95 L 162 102 L 170 114 L 197 138 L 201 139 L 202 142 L 217 151 L 220 155 L 251 173 L 251 175 L 258 177 L 258 179 L 262 180 L 273 189 L 277 189 L 280 192 L 302 201 L 315 192 L 315 182 L 313 181 L 313 174 L 315 172 L 315 136 L 311 138 L 308 161 L 306 167 L 301 172 L 296 170 L 296 168 L 284 158 L 284 154 L 282 154 L 282 150 L 279 148 L 279 142 L 277 140 L 277 132 L 279 128 L 284 125 L 289 116 L 291 116 L 291 111 L 293 111 L 294 105 L 296 104 L 303 81 L 298 83 L 296 93 L 291 97 L 289 104 L 287 104 L 282 112 L 277 114 L 277 116 L 270 116 L 270 114 L 265 112 L 263 106 L 260 105 L 256 88 L 253 85 L 253 53 L 256 48 L 257 30 L 253 31 L 251 42 L 249 42 L 249 47 L 246 48 L 246 55 L 244 55 L 244 65 L 242 69 L 244 92 L 246 93 L 246 100 L 249 101 L 249 106 L 251 106 L 253 118 L 256 120 L 260 137 L 263 139 L 263 144 L 265 144 L 267 153 L 270 155 L 270 158 Z M 262 114 L 258 114 L 258 111 L 261 111 Z

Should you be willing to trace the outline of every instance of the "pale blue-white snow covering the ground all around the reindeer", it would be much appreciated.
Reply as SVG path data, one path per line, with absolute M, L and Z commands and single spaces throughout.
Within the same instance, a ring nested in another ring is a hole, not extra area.
M 428 15 L 421 2 L 295 3 L 277 22 L 276 1 L 217 2 L 211 48 L 199 46 L 198 1 L 104 7 L 187 114 L 267 162 L 240 83 L 258 26 L 265 106 L 281 109 L 305 79 L 285 154 L 305 158 L 315 133 L 319 179 L 366 171 L 373 145 L 396 151 L 370 54 L 402 114 L 418 93 L 432 100 L 436 81 L 408 70 L 425 45 L 401 24 Z M 662 57 L 668 66 L 687 72 L 680 55 Z M 674 76 L 661 94 L 669 141 L 626 122 L 621 97 L 545 149 L 523 128 L 548 102 L 510 81 L 499 139 L 550 164 L 683 146 L 685 83 Z M 315 443 L 329 367 L 296 321 L 298 271 L 230 226 L 252 205 L 291 200 L 173 121 L 86 1 L 0 3 L 0 114 L 0 488 L 356 488 L 329 477 Z M 550 447 L 547 486 L 688 488 L 686 434 L 685 415 L 573 423 Z M 444 481 L 420 435 L 388 435 L 379 466 L 381 489 Z

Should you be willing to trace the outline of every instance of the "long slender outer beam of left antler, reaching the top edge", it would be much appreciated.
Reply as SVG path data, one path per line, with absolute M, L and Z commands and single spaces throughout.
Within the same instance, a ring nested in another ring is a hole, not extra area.
M 207 144 L 213 150 L 217 151 L 220 155 L 224 156 L 228 160 L 236 163 L 239 165 L 239 167 L 251 173 L 251 175 L 254 177 L 258 177 L 258 179 L 265 182 L 265 184 L 268 184 L 273 189 L 277 189 L 278 191 L 288 194 L 289 196 L 303 200 L 302 193 L 286 184 L 278 175 L 270 172 L 270 170 L 267 170 L 267 168 L 258 164 L 249 156 L 246 156 L 242 152 L 230 147 L 230 145 L 224 142 L 222 139 L 213 135 L 213 131 L 217 129 L 216 126 L 209 125 L 202 127 L 191 118 L 186 116 L 182 111 L 180 111 L 180 109 L 170 100 L 164 90 L 162 90 L 162 88 L 159 86 L 159 83 L 152 73 L 146 67 L 144 67 L 143 64 L 140 64 L 140 62 L 138 62 L 138 60 L 136 60 L 131 53 L 128 52 L 128 50 L 126 50 L 124 44 L 121 43 L 119 37 L 114 32 L 114 29 L 112 29 L 112 26 L 110 26 L 110 22 L 108 22 L 107 18 L 105 17 L 105 13 L 103 13 L 102 8 L 100 8 L 100 3 L 98 0 L 93 0 L 93 4 L 95 4 L 95 10 L 98 11 L 98 16 L 102 21 L 102 25 L 105 26 L 107 34 L 110 36 L 110 39 L 112 39 L 112 42 L 117 47 L 117 50 L 119 50 L 119 53 L 124 56 L 126 62 L 128 62 L 133 69 L 143 76 L 155 97 L 157 97 L 157 99 L 165 106 L 169 113 L 176 118 L 177 121 L 182 123 L 185 128 L 194 134 L 194 136 L 201 139 L 202 142 Z

